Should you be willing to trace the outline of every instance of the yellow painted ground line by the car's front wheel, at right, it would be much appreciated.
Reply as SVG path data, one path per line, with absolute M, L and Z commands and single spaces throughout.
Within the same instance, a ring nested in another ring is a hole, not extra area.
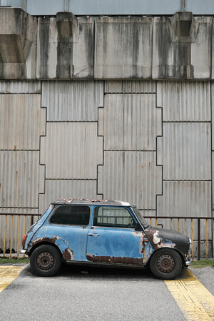
M 165 280 L 165 284 L 186 320 L 214 320 L 214 296 L 190 270 L 184 270 L 180 280 Z

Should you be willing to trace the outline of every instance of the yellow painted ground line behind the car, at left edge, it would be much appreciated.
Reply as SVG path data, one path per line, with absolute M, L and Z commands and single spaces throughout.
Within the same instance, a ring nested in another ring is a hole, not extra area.
M 0 292 L 19 276 L 24 266 L 0 266 Z

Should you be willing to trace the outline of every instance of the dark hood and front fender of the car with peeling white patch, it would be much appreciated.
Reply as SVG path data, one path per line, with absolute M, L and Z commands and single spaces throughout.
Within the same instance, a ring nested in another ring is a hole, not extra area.
M 175 248 L 183 255 L 188 254 L 190 239 L 182 233 L 152 226 L 146 228 L 145 233 L 156 250 L 158 248 Z

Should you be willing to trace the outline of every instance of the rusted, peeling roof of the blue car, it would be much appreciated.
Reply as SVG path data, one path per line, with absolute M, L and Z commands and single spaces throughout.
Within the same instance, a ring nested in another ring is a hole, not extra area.
M 54 200 L 51 202 L 54 205 L 61 204 L 84 204 L 84 205 L 108 205 L 108 206 L 132 206 L 128 202 L 123 202 L 121 200 L 91 200 L 88 198 L 61 198 L 60 200 Z

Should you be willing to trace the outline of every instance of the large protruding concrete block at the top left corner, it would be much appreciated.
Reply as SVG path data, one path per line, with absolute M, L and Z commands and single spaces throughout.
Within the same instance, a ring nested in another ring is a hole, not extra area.
M 0 9 L 1 79 L 26 78 L 26 59 L 35 41 L 36 18 L 19 8 Z

